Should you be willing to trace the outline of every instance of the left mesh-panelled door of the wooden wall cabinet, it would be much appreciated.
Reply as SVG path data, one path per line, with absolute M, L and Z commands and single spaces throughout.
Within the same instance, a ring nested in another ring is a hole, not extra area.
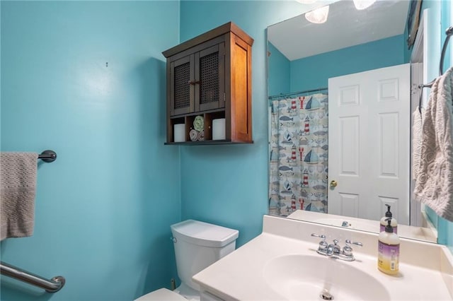
M 194 110 L 194 55 L 170 63 L 170 115 L 188 114 Z

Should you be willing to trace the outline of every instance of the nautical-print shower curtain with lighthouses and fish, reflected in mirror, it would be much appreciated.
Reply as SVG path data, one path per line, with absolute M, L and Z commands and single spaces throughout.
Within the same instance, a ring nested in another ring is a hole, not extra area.
M 273 100 L 270 109 L 269 213 L 327 213 L 328 96 Z

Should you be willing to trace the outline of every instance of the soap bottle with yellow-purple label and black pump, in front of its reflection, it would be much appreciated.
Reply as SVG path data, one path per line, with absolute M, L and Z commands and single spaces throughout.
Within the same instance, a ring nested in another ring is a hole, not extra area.
M 377 250 L 377 268 L 389 275 L 398 273 L 399 266 L 399 237 L 391 226 L 391 218 L 386 219 L 385 230 L 379 234 Z

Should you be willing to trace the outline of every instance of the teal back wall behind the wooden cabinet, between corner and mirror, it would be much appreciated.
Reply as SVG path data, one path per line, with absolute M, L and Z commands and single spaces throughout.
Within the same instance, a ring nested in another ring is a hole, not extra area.
M 181 1 L 180 4 L 181 41 L 230 20 L 255 40 L 252 50 L 254 143 L 181 147 L 182 218 L 235 228 L 239 230 L 239 245 L 260 234 L 263 214 L 268 213 L 265 28 L 302 13 L 304 7 L 296 1 Z

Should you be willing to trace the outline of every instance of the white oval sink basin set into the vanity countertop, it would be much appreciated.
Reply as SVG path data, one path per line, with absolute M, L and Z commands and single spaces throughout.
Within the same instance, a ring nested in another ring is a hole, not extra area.
M 390 300 L 384 285 L 354 264 L 360 262 L 291 254 L 268 261 L 263 277 L 286 300 Z

